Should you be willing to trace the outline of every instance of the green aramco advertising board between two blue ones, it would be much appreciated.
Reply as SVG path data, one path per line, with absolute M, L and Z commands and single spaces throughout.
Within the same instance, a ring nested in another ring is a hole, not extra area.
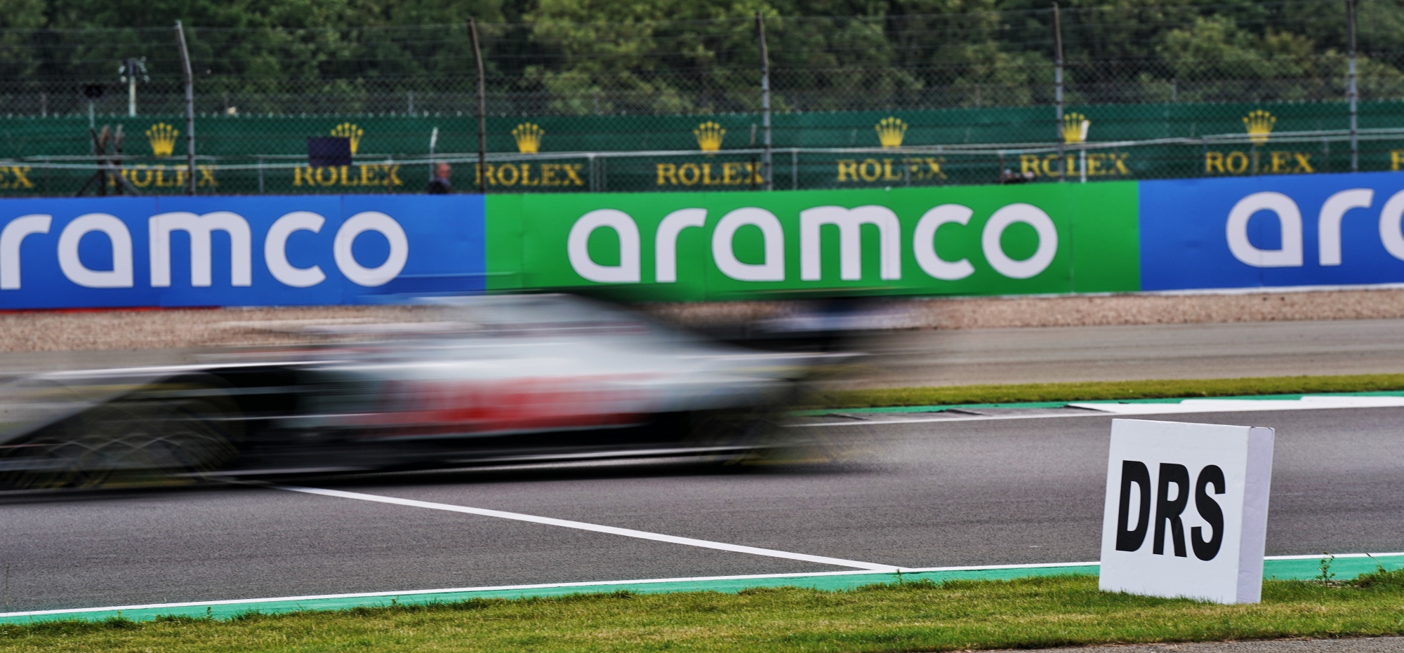
M 490 290 L 640 300 L 1140 289 L 1134 182 L 490 195 Z

